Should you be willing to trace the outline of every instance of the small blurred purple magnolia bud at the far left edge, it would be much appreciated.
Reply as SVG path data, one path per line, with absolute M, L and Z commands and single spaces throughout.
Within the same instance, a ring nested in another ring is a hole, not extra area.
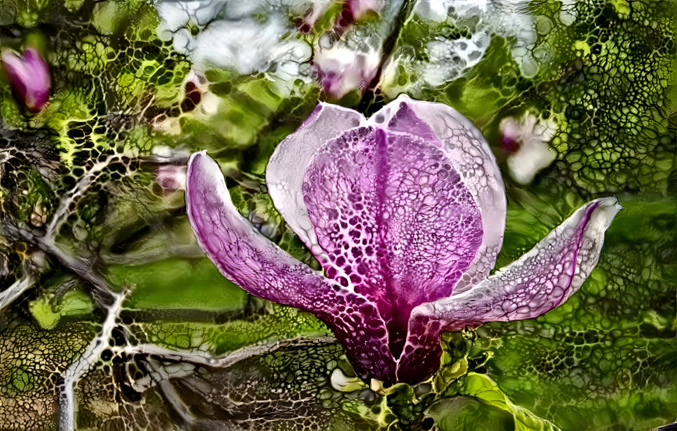
M 2 67 L 17 102 L 33 114 L 43 110 L 50 98 L 52 86 L 47 61 L 29 47 L 23 55 L 3 52 Z

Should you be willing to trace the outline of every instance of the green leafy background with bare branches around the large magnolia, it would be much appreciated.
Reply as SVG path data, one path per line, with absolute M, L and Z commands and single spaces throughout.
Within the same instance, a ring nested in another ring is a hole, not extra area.
M 0 84 L 0 428 L 69 415 L 105 429 L 677 418 L 673 1 L 375 2 L 355 20 L 332 1 L 195 4 L 0 3 L 3 50 L 38 47 L 53 84 L 36 116 Z M 322 91 L 326 46 L 376 59 L 376 79 Z M 318 100 L 370 114 L 401 92 L 459 109 L 492 145 L 508 192 L 497 267 L 588 199 L 616 194 L 625 209 L 567 303 L 446 335 L 440 372 L 386 395 L 337 387 L 352 372 L 324 325 L 222 278 L 192 239 L 183 193 L 157 177 L 208 149 L 238 209 L 314 264 L 266 194 L 268 157 Z M 556 160 L 525 185 L 499 125 L 526 114 L 554 125 Z

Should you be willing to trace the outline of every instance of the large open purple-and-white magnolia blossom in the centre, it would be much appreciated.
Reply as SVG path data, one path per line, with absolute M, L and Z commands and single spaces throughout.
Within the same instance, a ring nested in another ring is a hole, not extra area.
M 235 209 L 202 151 L 188 161 L 197 239 L 247 292 L 312 312 L 363 379 L 416 382 L 439 367 L 439 333 L 530 319 L 560 305 L 598 261 L 615 197 L 578 209 L 489 275 L 505 190 L 480 131 L 440 103 L 400 96 L 370 119 L 321 103 L 268 163 L 275 206 L 324 268 L 310 269 Z

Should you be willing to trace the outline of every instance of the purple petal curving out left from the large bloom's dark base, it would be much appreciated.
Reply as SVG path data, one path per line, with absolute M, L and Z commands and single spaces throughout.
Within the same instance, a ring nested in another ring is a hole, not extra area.
M 360 377 L 392 381 L 395 363 L 374 304 L 259 234 L 236 210 L 205 151 L 188 160 L 185 201 L 198 243 L 223 275 L 250 294 L 312 312 L 333 331 Z

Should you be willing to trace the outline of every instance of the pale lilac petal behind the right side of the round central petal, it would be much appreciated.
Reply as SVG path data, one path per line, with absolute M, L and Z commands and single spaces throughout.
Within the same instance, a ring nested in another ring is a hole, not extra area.
M 484 280 L 494 268 L 505 231 L 505 188 L 496 159 L 482 133 L 456 109 L 442 103 L 412 100 L 402 95 L 388 103 L 370 123 L 387 123 L 388 129 L 437 138 L 444 155 L 452 160 L 482 213 L 482 245 L 455 290 L 463 291 Z

